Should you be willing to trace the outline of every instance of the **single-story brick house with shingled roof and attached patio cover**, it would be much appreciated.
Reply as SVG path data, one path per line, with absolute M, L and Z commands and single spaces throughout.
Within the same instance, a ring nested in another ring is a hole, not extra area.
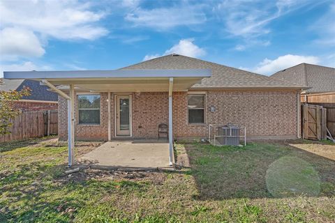
M 156 139 L 160 123 L 173 139 L 205 138 L 209 124 L 227 123 L 245 126 L 248 139 L 300 137 L 301 85 L 188 56 L 109 71 L 5 72 L 22 75 L 59 93 L 59 139 L 70 142 Z

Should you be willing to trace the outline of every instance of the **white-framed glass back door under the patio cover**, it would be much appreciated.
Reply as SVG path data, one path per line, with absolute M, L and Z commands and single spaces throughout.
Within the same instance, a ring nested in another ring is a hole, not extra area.
M 117 136 L 131 135 L 131 95 L 117 95 L 116 123 Z

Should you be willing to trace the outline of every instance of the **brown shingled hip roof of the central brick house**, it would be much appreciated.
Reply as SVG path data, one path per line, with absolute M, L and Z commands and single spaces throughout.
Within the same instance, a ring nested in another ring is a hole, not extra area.
M 156 59 L 137 63 L 122 70 L 133 69 L 211 69 L 211 77 L 202 79 L 191 89 L 251 89 L 251 88 L 292 88 L 299 89 L 301 84 L 292 84 L 283 80 L 258 75 L 246 70 L 223 66 L 218 63 L 202 61 L 179 54 L 170 54 Z

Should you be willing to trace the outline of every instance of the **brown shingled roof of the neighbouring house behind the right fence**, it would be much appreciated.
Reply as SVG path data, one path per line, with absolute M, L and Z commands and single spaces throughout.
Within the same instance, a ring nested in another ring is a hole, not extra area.
M 335 68 L 301 63 L 278 71 L 271 77 L 310 87 L 306 93 L 335 91 Z

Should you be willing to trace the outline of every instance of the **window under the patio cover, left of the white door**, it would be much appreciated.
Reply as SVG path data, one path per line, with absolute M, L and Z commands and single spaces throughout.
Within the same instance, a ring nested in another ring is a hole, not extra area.
M 100 124 L 100 95 L 78 95 L 79 123 Z

